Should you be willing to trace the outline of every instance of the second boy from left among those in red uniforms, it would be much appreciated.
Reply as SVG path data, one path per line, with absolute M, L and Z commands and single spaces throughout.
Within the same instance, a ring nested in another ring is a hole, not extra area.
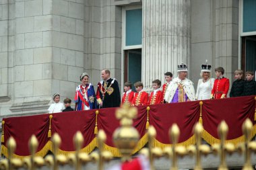
M 140 81 L 134 83 L 134 87 L 137 93 L 134 93 L 132 105 L 147 105 L 148 104 L 148 93 L 143 91 L 143 83 Z

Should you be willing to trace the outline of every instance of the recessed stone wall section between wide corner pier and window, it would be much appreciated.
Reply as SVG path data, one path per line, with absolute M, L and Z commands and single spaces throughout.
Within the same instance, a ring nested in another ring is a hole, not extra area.
M 86 0 L 84 19 L 84 69 L 91 75 L 94 88 L 102 69 L 121 85 L 122 8 L 114 0 Z

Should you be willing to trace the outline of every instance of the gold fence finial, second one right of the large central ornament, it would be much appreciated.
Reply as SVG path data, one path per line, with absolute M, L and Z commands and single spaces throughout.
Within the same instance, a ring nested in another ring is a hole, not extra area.
M 166 147 L 164 153 L 167 157 L 172 160 L 171 170 L 178 170 L 177 160 L 178 156 L 184 156 L 187 154 L 187 150 L 184 146 L 177 146 L 179 142 L 180 130 L 177 124 L 172 124 L 172 127 L 169 130 L 170 140 L 172 141 L 172 147 Z

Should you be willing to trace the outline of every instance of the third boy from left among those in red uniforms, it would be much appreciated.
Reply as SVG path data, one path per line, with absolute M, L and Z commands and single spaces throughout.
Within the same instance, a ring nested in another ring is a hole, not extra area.
M 161 81 L 156 79 L 152 81 L 152 87 L 154 91 L 150 93 L 150 100 L 148 101 L 148 104 L 160 104 L 162 103 L 162 91 L 160 91 Z

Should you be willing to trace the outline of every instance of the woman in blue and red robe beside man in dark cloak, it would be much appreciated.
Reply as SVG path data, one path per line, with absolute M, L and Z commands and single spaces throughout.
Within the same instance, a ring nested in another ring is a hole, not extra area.
M 75 89 L 75 110 L 92 110 L 97 108 L 94 86 L 89 83 L 89 75 L 80 75 L 81 85 Z

